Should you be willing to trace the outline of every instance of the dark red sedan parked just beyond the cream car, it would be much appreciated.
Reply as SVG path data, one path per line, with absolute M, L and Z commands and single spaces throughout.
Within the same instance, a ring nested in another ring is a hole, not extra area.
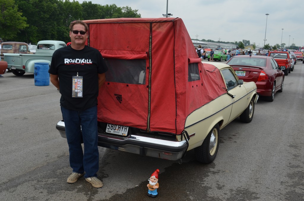
M 257 94 L 265 96 L 272 102 L 275 93 L 283 91 L 284 70 L 270 56 L 233 56 L 228 62 L 233 67 L 240 80 L 245 82 L 254 81 L 257 85 Z

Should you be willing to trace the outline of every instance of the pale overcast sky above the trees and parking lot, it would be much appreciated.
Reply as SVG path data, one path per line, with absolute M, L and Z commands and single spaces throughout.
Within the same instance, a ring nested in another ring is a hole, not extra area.
M 167 9 L 167 0 L 91 1 L 100 5 L 129 6 L 138 10 L 142 18 L 163 17 Z M 304 45 L 303 0 L 168 0 L 168 13 L 184 21 L 193 39 L 226 42 L 245 39 L 262 46 L 266 30 L 266 44 L 281 44 L 282 40 L 286 46 Z

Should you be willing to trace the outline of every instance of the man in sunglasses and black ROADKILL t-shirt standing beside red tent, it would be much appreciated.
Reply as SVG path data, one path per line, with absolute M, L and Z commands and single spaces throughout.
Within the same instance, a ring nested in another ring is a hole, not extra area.
M 60 106 L 73 169 L 67 182 L 74 183 L 84 175 L 92 186 L 100 188 L 102 182 L 96 175 L 99 168 L 97 96 L 108 68 L 100 52 L 85 45 L 87 31 L 85 22 L 71 22 L 71 45 L 54 52 L 49 73 L 51 83 L 61 94 Z

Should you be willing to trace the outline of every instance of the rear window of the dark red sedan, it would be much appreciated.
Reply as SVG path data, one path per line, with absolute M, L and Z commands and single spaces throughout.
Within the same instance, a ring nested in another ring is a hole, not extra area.
M 244 65 L 244 66 L 266 66 L 266 58 L 254 58 L 254 57 L 232 57 L 227 62 L 228 65 Z

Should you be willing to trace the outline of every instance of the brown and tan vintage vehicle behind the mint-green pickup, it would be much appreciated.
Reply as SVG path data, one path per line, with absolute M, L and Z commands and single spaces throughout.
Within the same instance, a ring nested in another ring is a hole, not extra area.
M 22 42 L 3 42 L 1 48 L 1 60 L 3 53 L 33 54 L 29 51 L 28 45 Z

